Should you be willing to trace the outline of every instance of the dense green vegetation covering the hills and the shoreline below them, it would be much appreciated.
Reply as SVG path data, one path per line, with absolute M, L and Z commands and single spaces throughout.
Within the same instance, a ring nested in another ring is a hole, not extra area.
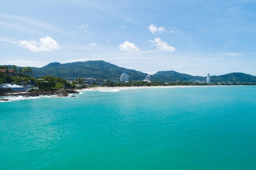
M 19 66 L 0 66 L 3 69 L 13 69 L 15 75 L 0 73 L 0 83 L 13 83 L 34 81 L 38 86 L 45 89 L 49 88 L 70 87 L 67 80 L 72 80 L 71 86 L 81 84 L 87 86 L 85 78 L 97 79 L 103 82 L 103 86 L 155 86 L 155 85 L 208 85 L 205 83 L 206 77 L 192 76 L 178 73 L 175 71 L 159 71 L 150 75 L 151 83 L 143 82 L 146 73 L 122 68 L 104 61 L 87 61 L 60 64 L 58 62 L 50 63 L 42 68 L 36 67 L 19 67 Z M 122 73 L 128 73 L 129 82 L 118 82 Z M 58 78 L 56 78 L 58 77 Z M 38 80 L 40 78 L 40 80 Z M 97 84 L 93 84 L 94 86 Z M 256 76 L 245 73 L 229 73 L 220 76 L 211 76 L 211 85 L 256 85 Z

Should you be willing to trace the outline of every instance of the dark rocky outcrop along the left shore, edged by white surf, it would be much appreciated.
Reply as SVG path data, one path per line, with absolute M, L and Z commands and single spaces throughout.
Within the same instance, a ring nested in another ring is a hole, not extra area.
M 61 88 L 51 91 L 31 91 L 27 93 L 6 93 L 1 96 L 23 96 L 23 97 L 37 97 L 39 95 L 57 95 L 58 97 L 67 97 L 69 94 L 79 94 L 73 89 Z

